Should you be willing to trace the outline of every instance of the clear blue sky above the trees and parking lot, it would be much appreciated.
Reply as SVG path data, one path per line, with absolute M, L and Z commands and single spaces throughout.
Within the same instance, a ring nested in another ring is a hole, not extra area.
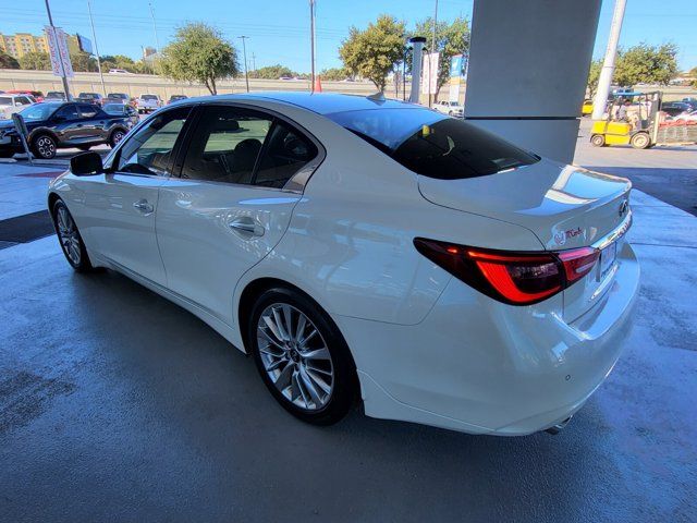
M 87 0 L 50 0 L 53 22 L 68 33 L 91 39 Z M 2 1 L 0 33 L 38 34 L 47 23 L 44 0 Z M 240 36 L 248 36 L 249 69 L 282 63 L 308 72 L 308 0 L 150 0 L 157 24 L 157 39 L 163 47 L 178 26 L 203 21 L 218 27 L 240 50 Z M 156 46 L 147 0 L 91 0 L 101 54 L 126 54 L 138 59 L 142 47 Z M 414 27 L 417 20 L 433 14 L 433 0 L 317 0 L 317 69 L 341 66 L 339 46 L 354 25 L 365 27 L 388 13 Z M 438 19 L 462 15 L 472 20 L 473 0 L 439 0 Z M 594 58 L 604 54 L 614 2 L 604 0 Z M 697 66 L 696 0 L 627 0 L 620 45 L 640 41 L 660 45 L 673 41 L 682 70 Z

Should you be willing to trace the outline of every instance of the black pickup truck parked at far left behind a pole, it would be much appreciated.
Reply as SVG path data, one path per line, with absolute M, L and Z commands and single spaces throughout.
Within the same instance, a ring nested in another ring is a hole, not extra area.
M 134 125 L 131 115 L 108 114 L 94 104 L 41 102 L 21 112 L 29 135 L 27 143 L 38 158 L 51 159 L 59 148 L 94 145 L 114 147 Z M 0 158 L 23 153 L 22 142 L 12 121 L 0 122 Z

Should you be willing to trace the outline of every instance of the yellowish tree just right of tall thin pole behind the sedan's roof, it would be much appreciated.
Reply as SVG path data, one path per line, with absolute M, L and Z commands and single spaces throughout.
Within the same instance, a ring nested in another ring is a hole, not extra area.
M 339 49 L 344 68 L 351 74 L 368 78 L 379 90 L 384 90 L 387 77 L 404 53 L 404 23 L 382 14 L 365 31 L 348 29 Z

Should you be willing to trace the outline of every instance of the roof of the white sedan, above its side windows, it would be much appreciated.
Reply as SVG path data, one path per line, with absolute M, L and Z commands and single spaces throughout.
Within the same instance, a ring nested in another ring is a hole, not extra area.
M 302 107 L 318 114 L 333 112 L 360 111 L 367 109 L 426 109 L 423 106 L 401 100 L 360 95 L 342 95 L 339 93 L 303 93 L 303 92 L 261 92 L 241 95 L 217 95 L 188 98 L 196 101 L 235 101 L 235 100 L 273 100 Z

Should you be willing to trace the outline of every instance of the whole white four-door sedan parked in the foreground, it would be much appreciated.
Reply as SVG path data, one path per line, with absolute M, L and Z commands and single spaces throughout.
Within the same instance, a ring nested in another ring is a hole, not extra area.
M 68 262 L 118 270 L 253 355 L 283 408 L 555 430 L 606 379 L 639 268 L 631 184 L 400 101 L 187 99 L 48 205 Z

